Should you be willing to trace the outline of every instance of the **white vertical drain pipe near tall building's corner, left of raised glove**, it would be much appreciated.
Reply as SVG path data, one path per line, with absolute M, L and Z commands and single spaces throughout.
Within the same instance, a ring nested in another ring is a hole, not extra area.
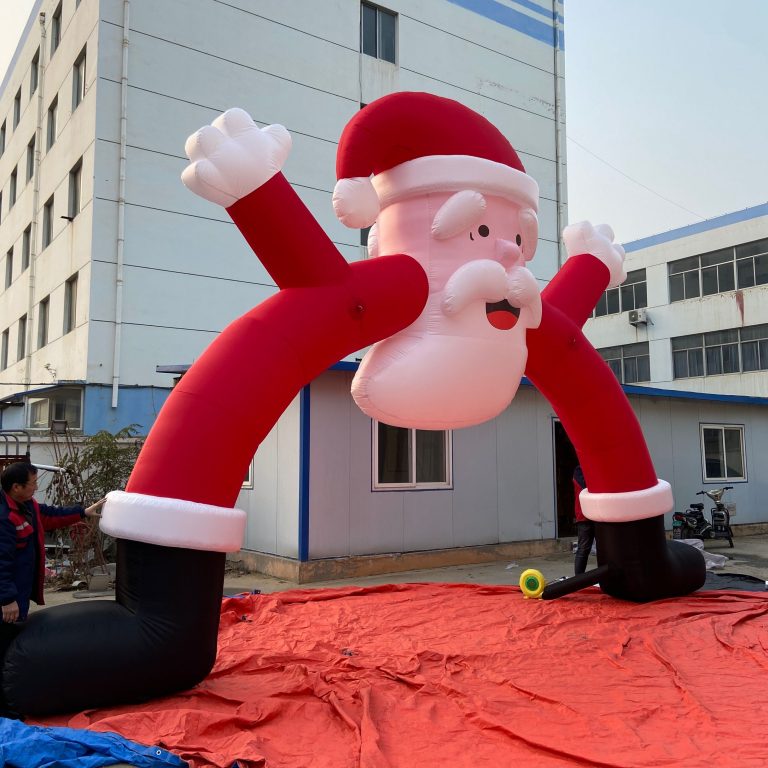
M 115 339 L 112 359 L 112 407 L 117 408 L 123 340 L 123 252 L 125 248 L 125 166 L 128 126 L 128 46 L 130 0 L 123 0 L 123 62 L 120 74 L 120 170 L 117 187 L 117 258 L 115 276 Z

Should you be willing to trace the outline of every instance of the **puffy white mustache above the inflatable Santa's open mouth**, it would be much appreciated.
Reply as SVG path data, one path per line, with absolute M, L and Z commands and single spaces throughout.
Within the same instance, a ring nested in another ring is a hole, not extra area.
M 442 301 L 443 313 L 449 317 L 466 309 L 473 301 L 493 304 L 506 299 L 513 307 L 527 307 L 533 313 L 534 325 L 541 321 L 541 294 L 536 278 L 525 267 L 512 267 L 507 272 L 498 261 L 477 259 L 463 264 L 448 279 Z

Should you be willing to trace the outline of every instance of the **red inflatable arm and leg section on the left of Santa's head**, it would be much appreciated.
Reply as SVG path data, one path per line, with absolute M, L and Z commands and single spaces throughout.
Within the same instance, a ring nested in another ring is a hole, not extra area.
M 301 387 L 405 328 L 426 302 L 416 261 L 348 264 L 282 174 L 227 210 L 281 290 L 226 328 L 185 374 L 142 448 L 129 492 L 233 505 L 257 447 Z M 208 478 L 197 470 L 201 455 L 224 429 L 229 460 Z

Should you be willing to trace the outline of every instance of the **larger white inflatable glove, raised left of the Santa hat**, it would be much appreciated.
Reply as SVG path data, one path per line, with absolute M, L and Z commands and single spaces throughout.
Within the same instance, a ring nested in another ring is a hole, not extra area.
M 184 151 L 192 161 L 181 174 L 184 185 L 227 208 L 280 172 L 291 135 L 282 125 L 259 128 L 236 107 L 193 133 Z

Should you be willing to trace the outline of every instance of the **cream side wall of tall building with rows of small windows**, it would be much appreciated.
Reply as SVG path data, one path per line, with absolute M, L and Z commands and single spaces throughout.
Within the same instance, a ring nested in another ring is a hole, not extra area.
M 14 248 L 14 281 L 0 292 L 0 332 L 10 328 L 9 367 L 0 372 L 0 395 L 22 389 L 20 384 L 50 384 L 56 380 L 84 380 L 88 350 L 88 295 L 91 277 L 91 244 L 94 198 L 94 125 L 98 48 L 98 6 L 74 3 L 62 6 L 62 34 L 51 55 L 50 33 L 56 3 L 42 0 L 32 13 L 29 34 L 20 43 L 0 93 L 0 124 L 6 121 L 6 149 L 0 157 L 0 188 L 3 189 L 3 217 L 0 223 L 0 253 Z M 37 21 L 46 14 L 45 38 Z M 86 95 L 73 110 L 73 65 L 83 47 L 86 56 Z M 42 72 L 38 89 L 30 98 L 31 61 L 40 47 Z M 21 87 L 21 121 L 13 128 L 13 99 Z M 56 141 L 46 146 L 47 111 L 58 97 Z M 35 177 L 27 182 L 26 150 L 36 136 L 38 164 Z M 73 221 L 62 218 L 69 212 L 69 173 L 82 160 L 81 210 Z M 9 177 L 18 167 L 18 197 L 9 206 Z M 37 186 L 37 194 L 36 192 Z M 43 207 L 53 196 L 52 241 L 42 247 Z M 31 266 L 21 272 L 23 231 L 32 227 Z M 4 276 L 5 259 L 3 259 Z M 64 335 L 64 284 L 78 273 L 78 304 L 75 330 Z M 4 285 L 4 283 L 3 283 Z M 38 307 L 50 296 L 48 344 L 37 349 Z M 17 361 L 18 318 L 28 316 L 27 357 Z M 46 368 L 48 366 L 48 368 Z M 54 377 L 51 375 L 54 371 Z

